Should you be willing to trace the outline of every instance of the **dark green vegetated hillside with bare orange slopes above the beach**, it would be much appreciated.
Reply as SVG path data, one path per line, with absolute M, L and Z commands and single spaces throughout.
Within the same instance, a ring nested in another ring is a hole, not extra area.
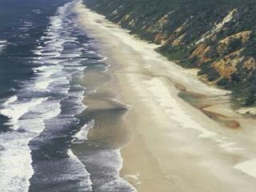
M 158 51 L 256 104 L 255 0 L 84 0 L 86 6 L 161 44 Z

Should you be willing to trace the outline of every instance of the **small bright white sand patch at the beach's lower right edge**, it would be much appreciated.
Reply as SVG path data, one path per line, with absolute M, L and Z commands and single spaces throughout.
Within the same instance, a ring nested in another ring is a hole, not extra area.
M 256 178 L 256 159 L 241 162 L 238 165 L 234 166 L 234 169 L 241 170 L 243 173 Z

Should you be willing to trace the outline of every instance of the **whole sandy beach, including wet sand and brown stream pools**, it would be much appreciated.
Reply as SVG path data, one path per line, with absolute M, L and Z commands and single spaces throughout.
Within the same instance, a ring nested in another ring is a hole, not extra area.
M 89 90 L 98 86 L 84 101 L 96 127 L 88 137 L 121 149 L 122 178 L 139 192 L 254 192 L 256 121 L 231 110 L 230 93 L 82 2 L 74 9 L 109 65 L 85 77 Z

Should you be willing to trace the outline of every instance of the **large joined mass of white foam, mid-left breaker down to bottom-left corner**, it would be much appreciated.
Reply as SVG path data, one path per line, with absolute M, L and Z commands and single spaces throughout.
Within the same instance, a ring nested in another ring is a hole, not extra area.
M 41 113 L 41 115 L 37 115 L 36 118 L 20 119 L 18 122 L 16 120 L 13 121 L 18 124 L 19 129 L 26 130 L 26 133 L 7 132 L 0 135 L 0 145 L 2 148 L 0 150 L 0 191 L 25 192 L 29 189 L 29 179 L 34 171 L 31 166 L 32 160 L 28 143 L 45 129 L 44 119 L 54 118 L 60 114 L 59 101 L 57 103 L 43 103 L 43 101 L 47 102 L 46 98 L 33 99 L 31 104 L 28 102 L 16 104 L 14 102 L 17 102 L 17 98 L 13 97 L 6 102 L 6 105 L 10 106 L 30 106 L 28 108 L 30 112 L 36 111 Z M 28 109 L 22 110 L 23 113 L 28 111 Z M 16 115 L 14 114 L 14 116 Z M 20 115 L 18 114 L 18 116 Z

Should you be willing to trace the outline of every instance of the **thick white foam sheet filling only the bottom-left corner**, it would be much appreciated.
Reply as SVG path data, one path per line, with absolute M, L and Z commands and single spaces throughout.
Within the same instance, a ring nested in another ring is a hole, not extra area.
M 24 134 L 6 133 L 0 135 L 3 150 L 0 150 L 0 191 L 26 192 L 29 190 L 29 179 L 33 174 L 30 148 L 27 145 L 30 137 Z

